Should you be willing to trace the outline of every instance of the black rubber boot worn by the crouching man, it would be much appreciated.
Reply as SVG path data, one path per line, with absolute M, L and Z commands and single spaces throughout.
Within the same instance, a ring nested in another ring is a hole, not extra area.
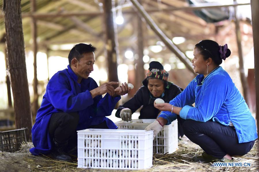
M 52 157 L 56 160 L 72 162 L 71 157 L 64 152 L 64 149 L 67 147 L 67 142 L 57 142 L 53 139 L 53 143 Z

